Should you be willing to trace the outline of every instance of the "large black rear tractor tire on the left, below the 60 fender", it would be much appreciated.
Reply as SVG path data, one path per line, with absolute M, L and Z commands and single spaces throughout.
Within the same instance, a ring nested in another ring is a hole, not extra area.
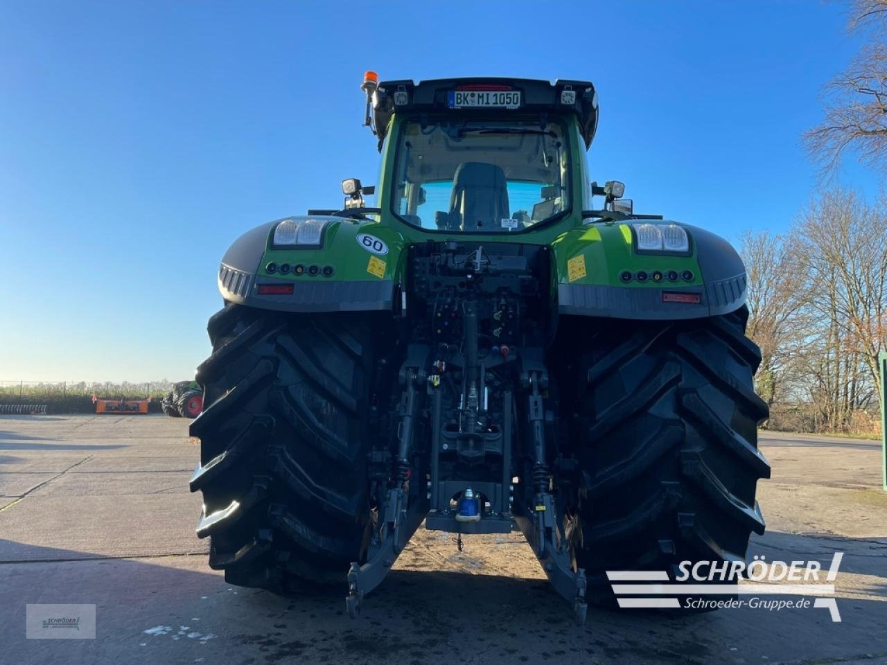
M 366 463 L 373 343 L 365 316 L 229 304 L 209 319 L 204 411 L 191 425 L 200 537 L 228 583 L 340 583 L 370 529 Z

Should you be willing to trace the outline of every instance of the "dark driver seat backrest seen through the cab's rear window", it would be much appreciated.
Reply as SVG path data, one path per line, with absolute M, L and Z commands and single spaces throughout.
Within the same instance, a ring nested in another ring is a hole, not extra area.
M 509 216 L 505 171 L 480 161 L 459 164 L 450 195 L 453 225 L 463 231 L 499 230 L 501 220 Z

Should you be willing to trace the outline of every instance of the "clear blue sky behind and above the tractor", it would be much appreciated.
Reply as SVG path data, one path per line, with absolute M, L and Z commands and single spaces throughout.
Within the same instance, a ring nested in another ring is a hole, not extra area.
M 428 8 L 424 8 L 428 7 Z M 593 179 L 735 241 L 784 231 L 847 4 L 0 4 L 0 380 L 181 380 L 248 229 L 375 183 L 363 72 L 591 80 Z M 846 160 L 842 184 L 875 175 Z

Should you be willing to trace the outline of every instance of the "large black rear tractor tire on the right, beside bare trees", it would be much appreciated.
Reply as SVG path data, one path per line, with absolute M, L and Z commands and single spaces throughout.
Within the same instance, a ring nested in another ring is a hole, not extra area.
M 583 487 L 569 528 L 596 599 L 612 601 L 608 570 L 673 574 L 682 560 L 744 559 L 750 533 L 764 533 L 755 489 L 770 465 L 757 423 L 768 408 L 754 392 L 761 357 L 745 337 L 747 318 L 742 308 L 679 322 L 609 320 L 585 337 Z

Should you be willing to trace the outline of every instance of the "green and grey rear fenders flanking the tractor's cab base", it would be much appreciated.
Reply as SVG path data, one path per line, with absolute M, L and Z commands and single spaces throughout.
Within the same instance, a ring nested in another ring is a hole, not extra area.
M 567 219 L 558 227 L 503 238 L 426 233 L 386 223 L 384 217 L 382 223 L 323 215 L 310 218 L 327 222 L 320 247 L 272 246 L 273 231 L 284 220 L 241 236 L 224 255 L 219 270 L 218 286 L 224 299 L 287 311 L 395 311 L 401 306 L 400 293 L 407 291 L 409 246 L 448 236 L 491 246 L 507 240 L 551 246 L 551 291 L 561 314 L 710 317 L 738 309 L 746 296 L 745 270 L 733 247 L 709 231 L 687 225 L 682 226 L 690 237 L 690 251 L 669 255 L 638 254 L 632 222 L 578 225 L 578 220 L 570 223 Z M 562 231 L 563 226 L 572 228 Z

